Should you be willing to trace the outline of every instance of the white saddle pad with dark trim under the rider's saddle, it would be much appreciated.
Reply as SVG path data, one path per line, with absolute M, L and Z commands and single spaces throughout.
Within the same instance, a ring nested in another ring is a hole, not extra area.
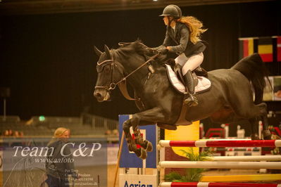
M 182 84 L 180 79 L 177 78 L 177 75 L 175 75 L 175 72 L 172 70 L 172 67 L 170 65 L 167 65 L 167 72 L 168 77 L 170 79 L 171 84 L 173 84 L 174 88 L 179 91 L 180 93 L 186 93 L 185 85 Z M 211 81 L 207 79 L 206 77 L 197 76 L 198 78 L 198 84 L 195 86 L 195 93 L 203 92 L 211 87 Z

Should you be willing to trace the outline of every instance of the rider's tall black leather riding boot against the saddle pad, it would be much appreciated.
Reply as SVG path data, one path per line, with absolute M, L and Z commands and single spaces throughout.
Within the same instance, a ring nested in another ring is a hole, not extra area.
M 194 85 L 194 79 L 192 77 L 192 72 L 190 70 L 187 71 L 187 74 L 183 76 L 185 79 L 185 86 L 187 88 L 187 92 L 189 92 L 188 98 L 185 99 L 185 104 L 189 106 L 196 106 L 198 105 L 197 98 L 194 96 L 195 92 L 195 85 Z

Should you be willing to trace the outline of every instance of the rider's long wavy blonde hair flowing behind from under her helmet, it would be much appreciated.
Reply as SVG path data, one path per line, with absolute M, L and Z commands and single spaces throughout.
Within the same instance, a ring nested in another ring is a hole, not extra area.
M 185 16 L 177 20 L 178 22 L 182 22 L 189 28 L 189 39 L 192 41 L 193 44 L 196 42 L 201 41 L 201 34 L 206 32 L 208 29 L 202 29 L 203 23 L 197 18 L 193 16 Z

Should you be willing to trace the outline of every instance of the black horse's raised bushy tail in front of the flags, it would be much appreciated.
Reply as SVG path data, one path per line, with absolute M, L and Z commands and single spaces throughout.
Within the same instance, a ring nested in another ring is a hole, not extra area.
M 251 56 L 242 58 L 231 69 L 238 70 L 251 81 L 255 91 L 254 103 L 261 103 L 263 101 L 263 89 L 266 86 L 265 77 L 268 79 L 268 70 L 263 60 L 261 60 L 261 56 L 254 53 Z

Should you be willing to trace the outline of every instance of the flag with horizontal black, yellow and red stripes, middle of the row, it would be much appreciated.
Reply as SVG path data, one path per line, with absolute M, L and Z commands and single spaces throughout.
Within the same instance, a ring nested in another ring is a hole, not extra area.
M 273 62 L 273 38 L 262 37 L 258 39 L 258 53 L 263 62 Z

